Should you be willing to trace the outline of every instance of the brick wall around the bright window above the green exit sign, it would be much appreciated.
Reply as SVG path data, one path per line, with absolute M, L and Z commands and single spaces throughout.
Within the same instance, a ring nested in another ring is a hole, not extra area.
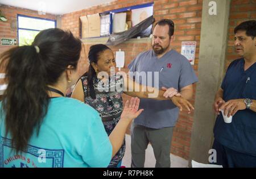
M 39 15 L 37 11 L 21 9 L 17 7 L 1 5 L 0 10 L 2 11 L 2 14 L 4 14 L 5 17 L 8 19 L 7 22 L 0 22 L 0 38 L 13 38 L 13 39 L 16 38 L 18 40 L 17 28 L 11 28 L 11 23 L 17 24 L 17 14 L 56 20 L 55 15 L 51 15 L 51 14 Z M 3 51 L 6 51 L 11 47 L 13 46 L 0 45 L 0 53 L 2 53 Z

